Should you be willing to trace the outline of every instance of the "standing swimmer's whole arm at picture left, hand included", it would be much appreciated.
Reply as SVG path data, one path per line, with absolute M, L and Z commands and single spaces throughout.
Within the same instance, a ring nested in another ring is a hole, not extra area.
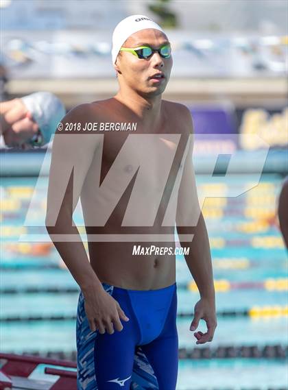
M 66 123 L 82 123 L 84 127 L 89 117 L 87 106 L 81 105 L 71 110 L 61 121 L 63 129 Z M 126 320 L 125 315 L 118 302 L 104 290 L 88 260 L 80 233 L 73 226 L 73 212 L 99 139 L 98 134 L 86 132 L 56 132 L 49 171 L 45 224 L 51 241 L 84 294 L 91 330 L 96 330 L 96 324 L 103 334 L 105 328 L 109 333 L 113 332 L 111 322 L 114 322 L 117 330 L 121 330 L 123 327 L 119 316 Z

